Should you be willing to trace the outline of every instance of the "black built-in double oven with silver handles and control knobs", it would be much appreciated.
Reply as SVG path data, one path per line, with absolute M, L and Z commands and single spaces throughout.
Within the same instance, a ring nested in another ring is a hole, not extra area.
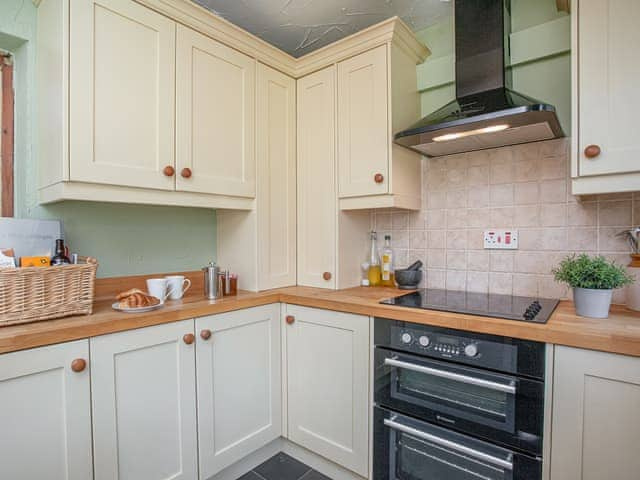
M 376 319 L 374 480 L 540 480 L 545 345 Z

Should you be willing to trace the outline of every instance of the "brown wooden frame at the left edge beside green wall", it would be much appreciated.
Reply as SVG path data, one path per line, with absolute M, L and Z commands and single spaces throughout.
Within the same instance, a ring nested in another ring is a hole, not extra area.
M 10 57 L 0 55 L 0 70 L 2 79 L 2 99 L 0 99 L 0 113 L 2 114 L 2 208 L 0 215 L 13 217 L 13 145 L 14 145 L 14 105 L 13 65 L 7 60 Z

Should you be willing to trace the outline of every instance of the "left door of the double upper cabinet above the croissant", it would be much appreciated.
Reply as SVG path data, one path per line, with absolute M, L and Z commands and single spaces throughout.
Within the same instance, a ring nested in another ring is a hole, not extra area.
M 70 179 L 173 190 L 175 23 L 131 0 L 70 4 Z

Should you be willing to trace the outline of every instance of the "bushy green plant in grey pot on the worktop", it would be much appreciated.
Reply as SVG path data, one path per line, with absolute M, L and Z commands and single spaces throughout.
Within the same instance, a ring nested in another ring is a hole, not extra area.
M 553 274 L 573 288 L 576 313 L 582 317 L 607 318 L 613 290 L 633 283 L 622 265 L 586 254 L 565 258 Z

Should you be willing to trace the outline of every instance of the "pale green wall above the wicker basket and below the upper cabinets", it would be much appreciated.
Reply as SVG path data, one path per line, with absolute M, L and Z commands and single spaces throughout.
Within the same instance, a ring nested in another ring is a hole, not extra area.
M 212 210 L 93 202 L 38 205 L 36 17 L 30 0 L 0 0 L 0 49 L 15 55 L 16 217 L 62 220 L 71 249 L 97 257 L 101 277 L 195 270 L 215 259 Z

